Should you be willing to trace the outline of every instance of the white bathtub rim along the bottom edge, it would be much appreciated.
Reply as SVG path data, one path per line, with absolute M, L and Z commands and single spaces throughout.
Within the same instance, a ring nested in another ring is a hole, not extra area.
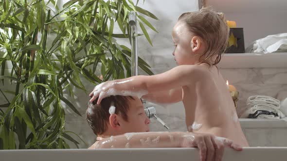
M 226 149 L 222 161 L 286 161 L 287 147 Z M 1 150 L 1 161 L 199 161 L 195 148 Z

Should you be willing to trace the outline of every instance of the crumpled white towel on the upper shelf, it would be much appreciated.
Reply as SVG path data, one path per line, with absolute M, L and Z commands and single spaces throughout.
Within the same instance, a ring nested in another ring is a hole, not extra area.
M 256 40 L 253 44 L 253 52 L 271 53 L 277 50 L 287 49 L 287 33 L 269 35 Z

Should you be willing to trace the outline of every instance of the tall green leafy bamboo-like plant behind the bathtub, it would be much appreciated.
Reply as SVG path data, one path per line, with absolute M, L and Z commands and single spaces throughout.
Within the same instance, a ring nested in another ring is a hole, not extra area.
M 71 0 L 61 10 L 56 0 L 0 1 L 0 87 L 8 79 L 15 88 L 0 88 L 7 101 L 0 105 L 0 149 L 69 148 L 67 140 L 79 144 L 72 131 L 65 131 L 61 101 L 81 114 L 63 90 L 73 96 L 72 86 L 86 91 L 84 80 L 102 82 L 94 74 L 99 67 L 103 81 L 130 77 L 130 48 L 115 40 L 130 39 L 130 11 L 157 19 L 132 0 Z M 143 24 L 155 28 L 143 16 L 138 20 L 151 44 Z M 113 32 L 116 23 L 122 33 Z M 5 71 L 7 63 L 11 72 Z M 142 59 L 139 66 L 153 74 Z

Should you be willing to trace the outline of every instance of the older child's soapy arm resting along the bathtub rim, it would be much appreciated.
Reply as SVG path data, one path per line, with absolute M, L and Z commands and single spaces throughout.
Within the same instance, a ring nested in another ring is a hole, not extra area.
M 198 147 L 201 161 L 221 161 L 225 146 L 242 151 L 232 140 L 191 132 L 126 133 L 103 139 L 94 148 Z

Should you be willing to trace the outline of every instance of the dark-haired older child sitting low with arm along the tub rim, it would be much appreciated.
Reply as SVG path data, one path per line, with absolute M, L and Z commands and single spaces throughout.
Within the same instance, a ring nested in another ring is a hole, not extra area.
M 149 132 L 150 120 L 137 97 L 110 96 L 88 103 L 86 119 L 97 135 L 94 148 L 198 147 L 202 161 L 221 160 L 224 146 L 242 148 L 226 138 L 192 132 Z

